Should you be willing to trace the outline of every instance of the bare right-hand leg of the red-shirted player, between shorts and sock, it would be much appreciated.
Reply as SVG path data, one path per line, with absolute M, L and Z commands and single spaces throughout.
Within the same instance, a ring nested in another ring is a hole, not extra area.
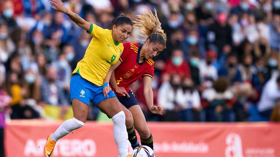
M 131 114 L 133 116 L 134 128 L 137 130 L 140 137 L 148 138 L 151 134 L 150 134 L 150 130 L 147 126 L 145 116 L 144 116 L 140 106 L 133 105 L 133 106 L 129 107 L 128 110 L 131 112 Z

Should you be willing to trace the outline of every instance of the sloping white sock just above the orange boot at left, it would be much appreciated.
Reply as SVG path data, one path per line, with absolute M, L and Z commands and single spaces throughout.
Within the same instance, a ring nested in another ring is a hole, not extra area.
M 73 130 L 76 130 L 78 128 L 81 128 L 82 126 L 84 126 L 85 123 L 82 121 L 79 121 L 76 118 L 72 118 L 72 119 L 68 119 L 65 122 L 63 122 L 54 132 L 54 134 L 52 134 L 52 136 L 50 137 L 50 139 L 54 140 L 55 142 L 58 141 L 58 139 L 64 137 L 65 135 L 67 135 L 68 133 L 70 133 Z

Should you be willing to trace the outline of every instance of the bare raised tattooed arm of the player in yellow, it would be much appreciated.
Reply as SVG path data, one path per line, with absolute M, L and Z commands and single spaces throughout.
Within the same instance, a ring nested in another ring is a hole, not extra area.
M 79 15 L 73 13 L 72 11 L 69 11 L 66 7 L 64 7 L 63 2 L 61 2 L 61 0 L 51 0 L 49 2 L 54 5 L 52 6 L 54 10 L 66 14 L 78 26 L 82 27 L 86 31 L 90 31 L 91 24 L 89 22 L 86 22 L 86 20 L 81 18 Z

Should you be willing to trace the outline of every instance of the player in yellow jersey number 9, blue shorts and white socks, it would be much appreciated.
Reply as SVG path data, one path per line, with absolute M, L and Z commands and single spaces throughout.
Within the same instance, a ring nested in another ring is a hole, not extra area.
M 108 28 L 112 30 L 102 29 L 67 10 L 60 0 L 51 0 L 50 3 L 54 5 L 53 9 L 65 13 L 72 21 L 85 29 L 88 34 L 91 34 L 93 38 L 86 49 L 85 56 L 78 62 L 72 73 L 70 93 L 74 118 L 66 120 L 53 134 L 49 135 L 44 146 L 44 155 L 46 157 L 52 156 L 58 139 L 85 125 L 88 105 L 91 101 L 108 117 L 112 118 L 114 140 L 118 146 L 119 156 L 130 156 L 128 155 L 128 134 L 124 111 L 122 111 L 114 92 L 108 92 L 107 97 L 105 97 L 102 90 L 104 86 L 109 86 L 109 83 L 104 83 L 103 80 L 110 67 L 117 63 L 121 52 L 123 52 L 122 43 L 132 31 L 132 21 L 121 15 L 108 25 Z

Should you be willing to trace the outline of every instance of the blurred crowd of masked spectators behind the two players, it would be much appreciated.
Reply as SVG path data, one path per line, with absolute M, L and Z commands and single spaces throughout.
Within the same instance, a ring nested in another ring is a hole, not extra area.
M 153 58 L 154 104 L 143 82 L 131 88 L 147 120 L 263 121 L 279 118 L 280 0 L 68 0 L 68 10 L 105 26 L 120 12 L 156 8 L 167 35 Z M 0 112 L 11 119 L 45 118 L 45 106 L 70 106 L 69 83 L 91 35 L 49 0 L 0 0 Z M 137 30 L 126 42 L 143 44 Z M 9 100 L 9 101 L 7 101 Z M 1 113 L 0 113 L 1 114 Z M 99 111 L 90 107 L 89 120 Z M 1 119 L 1 117 L 0 117 Z

